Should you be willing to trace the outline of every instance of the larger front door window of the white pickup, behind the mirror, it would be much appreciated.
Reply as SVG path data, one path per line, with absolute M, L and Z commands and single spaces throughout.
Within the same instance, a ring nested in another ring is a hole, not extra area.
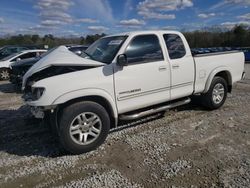
M 154 34 L 135 36 L 125 51 L 128 63 L 148 63 L 164 60 L 159 39 Z

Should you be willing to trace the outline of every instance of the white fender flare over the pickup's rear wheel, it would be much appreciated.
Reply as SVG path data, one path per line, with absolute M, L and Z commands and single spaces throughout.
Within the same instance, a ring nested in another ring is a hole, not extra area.
M 211 73 L 209 74 L 207 81 L 206 81 L 205 90 L 203 91 L 203 93 L 208 92 L 208 90 L 211 86 L 211 83 L 213 81 L 213 78 L 215 77 L 216 74 L 218 74 L 220 72 L 226 72 L 228 74 L 229 85 L 232 85 L 232 75 L 231 75 L 231 71 L 228 69 L 228 67 L 226 67 L 226 66 L 217 67 L 217 68 L 213 69 L 211 71 Z

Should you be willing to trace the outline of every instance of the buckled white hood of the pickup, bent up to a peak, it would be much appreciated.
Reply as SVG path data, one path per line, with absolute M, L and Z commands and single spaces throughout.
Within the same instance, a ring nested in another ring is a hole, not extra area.
M 28 70 L 23 77 L 23 86 L 25 86 L 25 83 L 30 76 L 51 66 L 98 67 L 103 65 L 105 64 L 91 59 L 82 58 L 69 51 L 67 47 L 60 46 L 40 59 Z

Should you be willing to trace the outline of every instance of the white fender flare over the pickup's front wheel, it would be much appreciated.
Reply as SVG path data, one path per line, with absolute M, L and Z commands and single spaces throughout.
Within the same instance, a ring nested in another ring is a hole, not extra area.
M 118 111 L 117 111 L 116 103 L 114 99 L 112 98 L 112 96 L 107 91 L 102 90 L 102 89 L 84 88 L 84 89 L 79 89 L 75 91 L 70 91 L 68 93 L 64 93 L 60 95 L 59 97 L 57 97 L 53 101 L 52 105 L 63 104 L 63 103 L 66 103 L 68 101 L 71 101 L 77 98 L 84 98 L 84 97 L 91 97 L 91 96 L 102 97 L 109 103 L 111 113 L 113 117 L 115 118 L 115 124 L 117 125 Z

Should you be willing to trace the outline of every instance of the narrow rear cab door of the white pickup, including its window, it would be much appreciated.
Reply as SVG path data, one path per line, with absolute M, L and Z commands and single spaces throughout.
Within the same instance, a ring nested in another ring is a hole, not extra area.
M 171 100 L 189 96 L 194 91 L 195 64 L 183 35 L 164 34 L 171 69 Z

